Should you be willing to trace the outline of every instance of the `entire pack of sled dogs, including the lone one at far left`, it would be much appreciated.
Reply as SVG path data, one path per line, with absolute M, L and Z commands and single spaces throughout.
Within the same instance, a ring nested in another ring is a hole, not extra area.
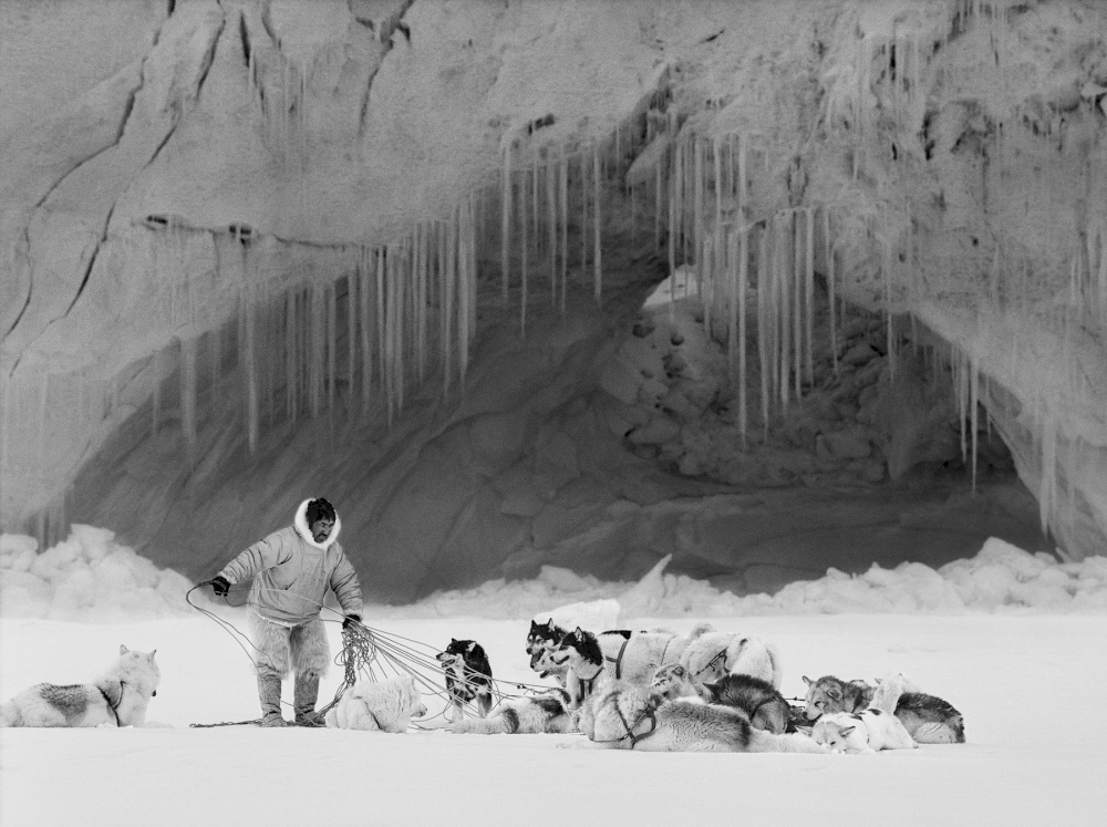
M 437 655 L 445 726 L 478 734 L 580 732 L 600 747 L 648 752 L 858 754 L 965 740 L 961 713 L 902 673 L 876 684 L 805 675 L 804 705 L 793 706 L 780 693 L 776 648 L 710 623 L 682 635 L 531 621 L 526 651 L 531 670 L 556 685 L 494 705 L 484 648 L 451 640 Z M 154 654 L 120 647 L 115 663 L 92 683 L 32 686 L 0 705 L 0 726 L 142 726 L 161 680 Z M 403 733 L 426 714 L 416 680 L 406 674 L 356 681 L 327 711 L 325 725 Z

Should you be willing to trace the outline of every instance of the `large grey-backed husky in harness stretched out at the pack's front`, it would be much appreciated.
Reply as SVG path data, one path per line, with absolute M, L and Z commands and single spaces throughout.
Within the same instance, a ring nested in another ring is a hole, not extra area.
M 649 689 L 610 681 L 583 706 L 580 731 L 610 750 L 645 752 L 825 753 L 806 735 L 756 730 L 741 710 L 697 700 L 665 701 Z

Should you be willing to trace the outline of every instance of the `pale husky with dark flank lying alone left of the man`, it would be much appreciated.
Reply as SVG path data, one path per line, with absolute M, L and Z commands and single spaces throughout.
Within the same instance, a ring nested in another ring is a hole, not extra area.
M 92 683 L 40 683 L 0 706 L 0 726 L 142 726 L 162 673 L 153 652 L 120 647 L 120 659 Z

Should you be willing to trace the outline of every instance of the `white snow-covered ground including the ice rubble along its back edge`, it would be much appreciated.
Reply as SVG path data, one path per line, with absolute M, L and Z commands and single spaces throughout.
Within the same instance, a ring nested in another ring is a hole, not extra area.
M 805 674 L 871 680 L 902 670 L 964 714 L 968 737 L 869 756 L 702 755 L 609 752 L 581 735 L 189 727 L 258 715 L 245 651 L 183 604 L 173 589 L 179 576 L 128 557 L 110 533 L 79 529 L 71 540 L 75 547 L 52 557 L 32 549 L 25 568 L 28 544 L 0 540 L 0 699 L 39 682 L 93 680 L 121 643 L 156 649 L 162 683 L 146 727 L 0 731 L 4 827 L 1090 825 L 1103 817 L 1104 558 L 1058 564 L 990 541 L 937 572 L 910 565 L 858 578 L 830 572 L 758 598 L 712 595 L 660 567 L 637 585 L 547 570 L 531 582 L 366 612 L 368 624 L 433 649 L 475 639 L 497 678 L 528 683 L 524 642 L 540 611 L 618 600 L 590 607 L 597 616 L 619 611 L 633 628 L 682 632 L 710 618 L 777 645 L 786 696 L 801 693 Z M 64 586 L 74 577 L 83 589 Z M 245 628 L 242 609 L 198 595 L 200 606 Z M 338 651 L 339 626 L 329 629 Z M 334 668 L 321 701 L 341 678 Z M 441 710 L 437 697 L 425 700 L 430 715 Z

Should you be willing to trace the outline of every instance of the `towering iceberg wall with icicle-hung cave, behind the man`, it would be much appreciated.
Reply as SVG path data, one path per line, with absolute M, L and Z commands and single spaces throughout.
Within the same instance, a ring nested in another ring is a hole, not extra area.
M 1107 3 L 0 6 L 0 529 L 366 597 L 1107 549 Z

